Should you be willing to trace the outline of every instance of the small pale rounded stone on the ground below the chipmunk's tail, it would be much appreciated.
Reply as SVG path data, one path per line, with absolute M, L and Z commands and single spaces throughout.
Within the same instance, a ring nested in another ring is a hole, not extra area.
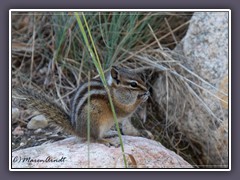
M 27 124 L 28 129 L 39 129 L 48 126 L 48 121 L 43 115 L 33 117 Z

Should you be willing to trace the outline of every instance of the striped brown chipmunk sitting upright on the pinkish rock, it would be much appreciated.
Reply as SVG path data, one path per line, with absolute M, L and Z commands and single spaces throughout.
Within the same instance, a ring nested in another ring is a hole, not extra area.
M 89 83 L 90 91 L 88 91 Z M 118 122 L 131 116 L 150 94 L 139 75 L 125 68 L 113 66 L 108 73 L 107 84 Z M 114 145 L 110 140 L 104 139 L 105 133 L 114 125 L 114 119 L 107 91 L 100 79 L 86 81 L 77 88 L 71 102 L 70 112 L 65 112 L 53 99 L 36 90 L 18 88 L 16 92 L 23 97 L 30 108 L 45 115 L 49 123 L 56 124 L 66 132 L 85 140 L 87 139 L 89 111 L 91 141 Z M 88 104 L 89 95 L 90 103 Z

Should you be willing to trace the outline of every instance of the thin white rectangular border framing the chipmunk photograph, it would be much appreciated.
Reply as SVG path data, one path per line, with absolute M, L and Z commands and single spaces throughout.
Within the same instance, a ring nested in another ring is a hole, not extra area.
M 14 169 L 12 168 L 12 147 L 11 147 L 11 119 L 12 119 L 12 107 L 11 107 L 11 101 L 12 101 L 12 91 L 9 92 L 9 171 L 231 171 L 231 10 L 230 9 L 10 9 L 9 10 L 9 88 L 12 87 L 12 61 L 11 61 L 11 47 L 12 47 L 12 37 L 11 37 L 11 13 L 12 12 L 48 12 L 48 11 L 56 11 L 56 12 L 62 12 L 62 11 L 68 11 L 68 12 L 88 12 L 88 11 L 99 11 L 99 12 L 114 12 L 114 11 L 139 11 L 139 12 L 171 12 L 171 11 L 184 11 L 184 12 L 228 12 L 228 22 L 229 22 L 229 36 L 228 36 L 228 77 L 229 77 L 229 102 L 228 102 L 228 110 L 229 110 L 229 119 L 228 119 L 228 126 L 229 126 L 229 168 L 228 169 Z

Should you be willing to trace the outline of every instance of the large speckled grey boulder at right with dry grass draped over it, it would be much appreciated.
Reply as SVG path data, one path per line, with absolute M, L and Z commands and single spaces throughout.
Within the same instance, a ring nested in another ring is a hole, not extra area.
M 182 70 L 181 75 L 202 88 L 186 80 L 182 82 L 189 84 L 187 88 L 184 83 L 176 84 L 177 77 L 175 84 L 169 81 L 167 93 L 166 76 L 160 76 L 154 85 L 159 111 L 166 114 L 168 104 L 168 121 L 198 144 L 195 149 L 202 165 L 227 167 L 228 12 L 194 13 L 186 36 L 173 54 L 195 74 Z

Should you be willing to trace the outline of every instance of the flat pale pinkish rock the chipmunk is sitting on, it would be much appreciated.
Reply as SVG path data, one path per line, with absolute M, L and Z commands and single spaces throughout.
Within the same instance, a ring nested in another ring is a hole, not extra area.
M 141 137 L 122 137 L 126 156 L 132 155 L 138 168 L 192 168 L 180 156 L 156 141 Z M 72 137 L 12 152 L 12 168 L 88 167 L 124 168 L 121 148 L 107 147 L 99 143 L 90 143 L 88 146 L 87 143 Z

